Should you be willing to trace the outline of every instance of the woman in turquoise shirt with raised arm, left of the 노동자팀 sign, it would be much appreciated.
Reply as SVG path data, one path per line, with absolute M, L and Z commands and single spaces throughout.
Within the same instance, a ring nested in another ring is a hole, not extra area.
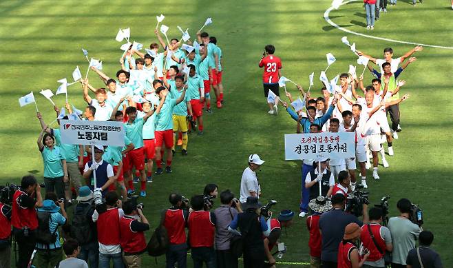
M 45 192 L 55 192 L 59 198 L 65 198 L 63 181 L 69 181 L 69 177 L 63 150 L 55 145 L 54 136 L 49 133 L 44 134 L 44 130 L 39 134 L 37 143 L 44 162 Z

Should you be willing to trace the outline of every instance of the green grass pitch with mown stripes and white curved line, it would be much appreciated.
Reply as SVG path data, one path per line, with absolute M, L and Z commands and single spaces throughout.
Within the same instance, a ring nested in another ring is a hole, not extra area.
M 426 1 L 415 7 L 410 0 L 398 1 L 381 14 L 374 31 L 364 28 L 364 8 L 355 2 L 330 12 L 338 25 L 355 32 L 378 37 L 432 45 L 451 46 L 453 21 L 450 1 Z M 165 14 L 169 37 L 180 37 L 176 25 L 189 28 L 192 37 L 207 17 L 213 24 L 206 30 L 218 38 L 224 54 L 225 105 L 205 114 L 205 135 L 189 136 L 189 156 L 176 155 L 173 174 L 154 178 L 145 198 L 145 212 L 152 226 L 158 223 L 160 209 L 168 207 L 170 192 L 185 196 L 201 194 L 207 183 L 217 183 L 219 190 L 238 193 L 242 170 L 249 154 L 266 161 L 258 173 L 263 200 L 276 199 L 280 209 L 298 211 L 300 196 L 300 161 L 284 161 L 283 135 L 295 132 L 295 122 L 282 111 L 268 116 L 262 93 L 262 70 L 257 68 L 264 45 L 273 43 L 281 57 L 284 76 L 308 87 L 308 74 L 315 72 L 313 92 L 319 92 L 319 71 L 326 67 L 327 52 L 337 58 L 328 70 L 328 77 L 357 65 L 355 55 L 340 39 L 347 35 L 357 49 L 381 56 L 391 46 L 399 56 L 413 45 L 390 43 L 345 34 L 328 25 L 323 18 L 330 1 L 189 1 L 162 5 L 160 1 L 1 1 L 1 107 L 0 183 L 19 183 L 28 172 L 42 179 L 43 164 L 36 148 L 39 122 L 33 105 L 20 108 L 17 99 L 34 91 L 45 121 L 54 119 L 49 101 L 39 90 L 56 90 L 63 77 L 69 80 L 79 65 L 87 68 L 81 52 L 101 58 L 105 73 L 114 76 L 119 69 L 120 43 L 114 40 L 118 28 L 131 28 L 131 40 L 149 45 L 156 41 L 155 16 Z M 441 254 L 444 267 L 453 267 L 451 254 L 453 229 L 453 50 L 425 48 L 416 54 L 401 79 L 408 83 L 404 93 L 409 101 L 401 105 L 400 138 L 394 141 L 395 156 L 388 157 L 390 168 L 380 167 L 381 180 L 369 180 L 370 200 L 377 203 L 390 195 L 390 216 L 395 215 L 396 202 L 405 197 L 423 209 L 425 229 L 434 232 L 434 249 Z M 359 68 L 357 68 L 359 70 Z M 102 83 L 89 74 L 94 86 Z M 366 81 L 371 76 L 366 73 Z M 289 86 L 291 87 L 291 86 Z M 295 89 L 288 90 L 295 94 Z M 69 100 L 83 107 L 82 90 L 69 87 Z M 60 107 L 64 96 L 54 97 Z M 370 174 L 368 174 L 370 178 Z M 215 201 L 217 204 L 220 200 Z M 450 204 L 450 205 L 449 205 Z M 149 234 L 148 234 L 149 236 Z M 295 218 L 295 225 L 281 238 L 288 247 L 282 261 L 308 262 L 308 232 L 304 221 Z M 189 260 L 190 262 L 190 260 Z M 145 256 L 145 265 L 164 267 L 165 258 Z M 144 265 L 144 266 L 145 266 Z M 293 267 L 293 265 L 278 265 Z

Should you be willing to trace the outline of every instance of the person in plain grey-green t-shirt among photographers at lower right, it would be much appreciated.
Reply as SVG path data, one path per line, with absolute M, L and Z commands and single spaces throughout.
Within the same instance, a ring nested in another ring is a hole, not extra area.
M 421 232 L 421 227 L 410 221 L 412 214 L 410 200 L 401 198 L 397 208 L 399 216 L 388 220 L 388 229 L 393 240 L 392 268 L 405 267 L 408 252 L 415 248 L 415 241 Z

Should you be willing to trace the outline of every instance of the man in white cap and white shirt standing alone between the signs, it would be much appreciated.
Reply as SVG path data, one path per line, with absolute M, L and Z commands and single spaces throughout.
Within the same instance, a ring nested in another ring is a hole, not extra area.
M 247 197 L 254 196 L 259 198 L 260 195 L 260 183 L 256 176 L 256 170 L 261 167 L 264 161 L 261 160 L 257 154 L 251 154 L 249 156 L 249 167 L 244 169 L 241 178 L 241 189 L 240 189 L 240 202 L 245 203 Z

